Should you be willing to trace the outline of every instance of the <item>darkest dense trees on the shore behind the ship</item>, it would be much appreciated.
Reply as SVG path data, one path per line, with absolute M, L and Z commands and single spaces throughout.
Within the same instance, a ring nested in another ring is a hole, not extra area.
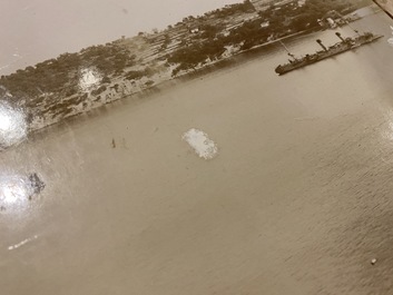
M 214 13 L 220 18 L 249 11 L 249 1 L 245 1 L 209 12 L 205 17 Z M 226 46 L 242 45 L 240 49 L 246 50 L 296 32 L 321 29 L 317 20 L 326 17 L 328 12 L 334 10 L 338 13 L 350 13 L 367 4 L 367 0 L 307 0 L 304 6 L 298 6 L 297 1 L 279 7 L 272 4 L 258 13 L 259 18 L 244 22 L 227 36 L 222 35 L 223 28 L 219 26 L 200 26 L 191 42 L 184 43 L 183 48 L 170 55 L 168 62 L 179 65 L 173 72 L 176 76 L 180 70 L 195 69 L 207 59 L 218 58 Z

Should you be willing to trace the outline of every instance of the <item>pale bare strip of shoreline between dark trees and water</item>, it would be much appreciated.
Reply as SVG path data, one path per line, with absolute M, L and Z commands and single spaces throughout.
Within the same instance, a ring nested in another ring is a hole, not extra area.
M 381 11 L 381 10 L 379 10 Z M 375 11 L 377 13 L 379 11 Z M 367 16 L 362 16 L 365 18 Z M 135 87 L 135 81 L 129 81 L 126 76 L 120 76 L 114 79 L 110 83 L 100 83 L 97 88 L 105 87 L 107 90 L 104 92 L 95 94 L 95 91 L 90 91 L 86 94 L 86 99 L 81 99 L 81 95 L 73 97 L 61 97 L 59 105 L 69 105 L 68 108 L 65 108 L 62 111 L 57 110 L 56 108 L 52 110 L 51 105 L 49 105 L 46 109 L 46 112 L 42 117 L 39 117 L 38 120 L 35 120 L 30 124 L 29 132 L 37 132 L 38 130 L 45 129 L 55 124 L 60 124 L 62 121 L 67 122 L 69 118 L 75 118 L 76 116 L 80 116 L 81 114 L 89 114 L 95 109 L 101 108 L 108 104 L 114 104 L 115 101 L 121 99 L 130 99 L 130 98 L 145 98 L 150 94 L 161 91 L 168 87 L 176 86 L 178 82 L 188 81 L 191 79 L 199 78 L 207 73 L 212 73 L 219 69 L 225 69 L 233 65 L 238 65 L 243 62 L 245 59 L 248 59 L 250 56 L 258 56 L 259 52 L 268 49 L 269 47 L 274 48 L 278 46 L 278 42 L 285 41 L 292 38 L 298 38 L 302 36 L 308 36 L 312 33 L 317 33 L 323 31 L 321 27 L 314 27 L 312 29 L 303 30 L 299 32 L 291 33 L 275 40 L 264 42 L 261 45 L 253 46 L 247 49 L 240 49 L 228 53 L 227 56 L 222 56 L 218 59 L 210 60 L 203 65 L 198 65 L 195 69 L 184 70 L 179 72 L 176 77 L 171 76 L 171 69 L 166 68 L 165 71 L 155 73 L 153 77 L 144 77 L 140 81 L 137 82 L 137 87 Z M 272 70 L 272 75 L 275 75 Z M 150 85 L 148 85 L 150 82 Z M 83 95 L 85 96 L 85 95 Z M 72 102 L 71 100 L 79 99 L 81 102 Z M 73 105 L 72 105 L 73 104 Z

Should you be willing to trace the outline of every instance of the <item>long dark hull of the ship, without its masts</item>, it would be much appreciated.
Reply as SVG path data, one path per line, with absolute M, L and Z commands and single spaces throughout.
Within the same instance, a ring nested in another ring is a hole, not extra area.
M 296 69 L 299 69 L 299 68 L 316 63 L 316 62 L 318 62 L 321 60 L 324 60 L 324 59 L 341 55 L 343 52 L 356 49 L 356 48 L 358 48 L 361 46 L 374 42 L 374 41 L 376 41 L 377 39 L 380 39 L 383 36 L 380 36 L 380 35 L 379 36 L 372 36 L 372 37 L 369 37 L 369 38 L 365 37 L 365 36 L 360 36 L 356 39 L 353 39 L 352 42 L 343 41 L 343 42 L 340 42 L 340 43 L 336 43 L 336 45 L 330 47 L 327 49 L 327 51 L 318 51 L 318 52 L 316 52 L 316 53 L 314 53 L 312 56 L 303 58 L 302 60 L 294 60 L 291 63 L 281 65 L 281 66 L 278 66 L 275 69 L 275 71 L 279 76 L 282 76 L 282 75 L 287 73 L 289 71 L 293 71 L 293 70 L 296 70 Z

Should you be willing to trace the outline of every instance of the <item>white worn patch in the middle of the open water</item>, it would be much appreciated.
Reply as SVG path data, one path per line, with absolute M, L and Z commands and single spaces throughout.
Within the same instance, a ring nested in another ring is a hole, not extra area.
M 183 139 L 204 159 L 213 159 L 218 154 L 217 145 L 208 138 L 208 135 L 198 129 L 189 129 L 183 135 Z

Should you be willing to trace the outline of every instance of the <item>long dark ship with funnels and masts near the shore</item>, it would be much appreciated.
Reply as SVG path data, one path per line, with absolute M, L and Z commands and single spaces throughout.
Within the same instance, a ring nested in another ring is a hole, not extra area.
M 341 41 L 331 46 L 331 47 L 325 47 L 322 41 L 318 39 L 316 42 L 322 47 L 323 50 L 316 51 L 313 55 L 306 55 L 305 57 L 302 58 L 296 58 L 293 53 L 289 52 L 289 50 L 282 43 L 285 48 L 285 50 L 288 52 L 288 56 L 291 57 L 289 62 L 279 65 L 275 71 L 278 75 L 284 75 L 288 71 L 306 67 L 308 65 L 315 63 L 320 60 L 343 53 L 345 51 L 355 49 L 357 47 L 361 47 L 363 45 L 367 45 L 371 42 L 374 42 L 375 40 L 382 38 L 382 35 L 374 35 L 372 32 L 365 32 L 363 35 L 358 35 L 357 37 L 353 38 L 343 38 L 340 32 L 335 33 Z

